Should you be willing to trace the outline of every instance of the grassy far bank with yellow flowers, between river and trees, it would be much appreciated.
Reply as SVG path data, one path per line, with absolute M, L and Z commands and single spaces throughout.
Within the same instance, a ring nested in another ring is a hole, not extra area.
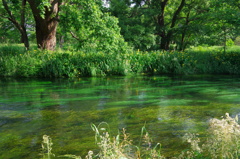
M 240 49 L 194 48 L 127 54 L 0 46 L 0 76 L 81 77 L 129 74 L 240 74 Z

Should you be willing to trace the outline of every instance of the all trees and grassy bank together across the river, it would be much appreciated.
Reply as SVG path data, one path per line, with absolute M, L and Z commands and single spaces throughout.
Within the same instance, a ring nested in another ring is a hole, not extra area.
M 239 43 L 239 6 L 235 0 L 2 0 L 0 75 L 239 74 L 239 50 L 229 50 Z M 221 47 L 201 51 L 212 45 Z

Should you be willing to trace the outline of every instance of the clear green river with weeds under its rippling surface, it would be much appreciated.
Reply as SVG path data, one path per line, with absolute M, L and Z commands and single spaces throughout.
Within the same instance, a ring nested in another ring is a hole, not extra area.
M 40 158 L 42 135 L 56 154 L 96 149 L 90 124 L 126 128 L 137 141 L 142 126 L 166 156 L 186 148 L 181 137 L 226 112 L 240 113 L 239 77 L 157 76 L 81 79 L 1 79 L 0 158 Z

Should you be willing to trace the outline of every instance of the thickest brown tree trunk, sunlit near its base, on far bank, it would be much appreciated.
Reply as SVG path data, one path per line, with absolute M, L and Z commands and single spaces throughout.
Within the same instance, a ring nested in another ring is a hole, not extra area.
M 37 45 L 41 49 L 54 50 L 56 47 L 56 30 L 58 25 L 58 12 L 60 0 L 51 0 L 50 7 L 39 9 L 36 0 L 27 0 L 32 9 L 36 23 Z

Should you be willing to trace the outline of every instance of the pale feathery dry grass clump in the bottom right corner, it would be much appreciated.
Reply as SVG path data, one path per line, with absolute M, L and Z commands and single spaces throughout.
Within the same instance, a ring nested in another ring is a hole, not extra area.
M 187 133 L 184 139 L 191 144 L 191 150 L 183 152 L 179 158 L 235 159 L 240 152 L 240 125 L 238 117 L 226 113 L 222 119 L 209 121 L 208 138 L 202 146 L 197 134 Z

